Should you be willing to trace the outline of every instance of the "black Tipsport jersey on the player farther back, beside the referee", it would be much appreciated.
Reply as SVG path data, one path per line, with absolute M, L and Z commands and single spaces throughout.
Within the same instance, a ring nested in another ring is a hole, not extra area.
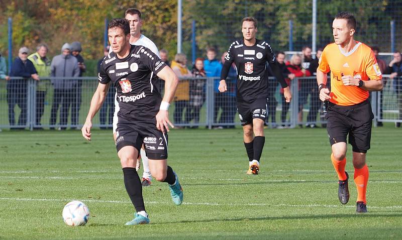
M 251 101 L 266 98 L 268 79 L 266 63 L 276 62 L 271 46 L 258 39 L 254 46 L 246 46 L 243 39 L 235 41 L 229 47 L 225 65 L 233 62 L 237 69 L 237 99 Z

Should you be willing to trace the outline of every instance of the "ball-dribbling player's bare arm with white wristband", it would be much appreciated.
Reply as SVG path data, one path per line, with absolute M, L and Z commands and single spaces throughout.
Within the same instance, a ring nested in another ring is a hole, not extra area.
M 173 70 L 168 66 L 165 66 L 156 75 L 165 81 L 165 94 L 163 95 L 159 112 L 156 114 L 156 127 L 158 128 L 158 130 L 162 131 L 162 133 L 165 133 L 165 128 L 166 131 L 169 132 L 168 125 L 174 128 L 173 124 L 169 121 L 169 114 L 167 109 L 170 102 L 173 100 L 174 94 L 176 93 L 179 79 L 173 72 Z

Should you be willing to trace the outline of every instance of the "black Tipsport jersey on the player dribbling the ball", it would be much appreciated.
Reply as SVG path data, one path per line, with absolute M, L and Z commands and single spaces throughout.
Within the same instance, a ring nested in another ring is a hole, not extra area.
M 148 48 L 131 45 L 130 54 L 124 59 L 111 52 L 104 58 L 98 73 L 99 82 L 112 81 L 120 110 L 118 123 L 133 121 L 155 122 L 162 97 L 156 74 L 166 64 Z

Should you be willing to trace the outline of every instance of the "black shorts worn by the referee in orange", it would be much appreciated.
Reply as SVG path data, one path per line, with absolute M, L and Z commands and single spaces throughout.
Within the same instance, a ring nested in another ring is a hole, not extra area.
M 371 126 L 374 118 L 368 100 L 352 106 L 329 103 L 327 131 L 331 146 L 344 142 L 349 135 L 349 144 L 353 152 L 366 153 L 370 149 Z

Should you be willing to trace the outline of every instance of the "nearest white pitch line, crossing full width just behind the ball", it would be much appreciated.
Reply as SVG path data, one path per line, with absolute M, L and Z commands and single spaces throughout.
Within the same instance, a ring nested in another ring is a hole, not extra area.
M 0 200 L 4 201 L 52 201 L 52 202 L 70 202 L 77 199 L 48 199 L 48 198 L 14 198 L 14 197 L 1 197 Z M 97 203 L 122 203 L 130 204 L 130 201 L 122 200 L 96 200 L 96 199 L 79 199 L 81 202 L 97 202 Z M 158 201 L 146 201 L 146 204 L 172 204 L 171 202 L 158 202 Z M 355 206 L 344 206 L 344 205 L 327 205 L 327 204 L 269 204 L 269 203 L 215 203 L 215 202 L 183 202 L 184 205 L 202 205 L 202 206 L 267 206 L 267 207 L 350 207 Z M 369 208 L 378 209 L 397 209 L 402 208 L 401 205 L 394 206 L 370 206 Z

